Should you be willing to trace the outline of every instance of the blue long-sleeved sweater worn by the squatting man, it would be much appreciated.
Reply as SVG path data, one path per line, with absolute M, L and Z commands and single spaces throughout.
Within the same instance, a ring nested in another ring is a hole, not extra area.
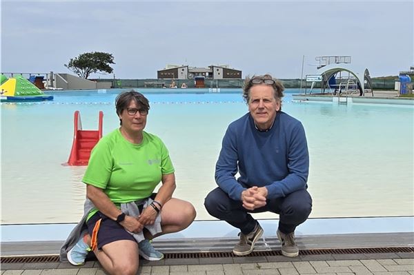
M 227 128 L 215 180 L 236 201 L 241 200 L 246 187 L 252 186 L 266 186 L 267 198 L 279 198 L 306 189 L 308 170 L 308 145 L 302 123 L 277 112 L 273 127 L 259 132 L 248 113 Z M 236 180 L 237 172 L 240 177 Z

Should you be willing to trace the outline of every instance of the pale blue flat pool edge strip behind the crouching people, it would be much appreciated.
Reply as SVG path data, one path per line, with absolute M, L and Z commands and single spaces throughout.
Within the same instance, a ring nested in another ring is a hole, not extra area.
M 264 236 L 275 236 L 277 219 L 259 219 Z M 75 223 L 1 225 L 1 243 L 23 241 L 63 241 Z M 239 230 L 224 221 L 195 221 L 181 232 L 157 239 L 233 238 Z M 381 234 L 414 232 L 414 216 L 364 218 L 309 218 L 297 227 L 297 236 L 331 234 Z

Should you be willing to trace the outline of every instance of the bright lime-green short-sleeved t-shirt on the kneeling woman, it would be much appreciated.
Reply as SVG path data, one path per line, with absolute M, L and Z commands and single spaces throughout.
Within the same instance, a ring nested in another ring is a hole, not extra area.
M 142 142 L 134 144 L 117 129 L 95 145 L 82 181 L 101 188 L 113 203 L 129 203 L 148 198 L 162 175 L 173 172 L 168 150 L 158 136 L 143 132 Z

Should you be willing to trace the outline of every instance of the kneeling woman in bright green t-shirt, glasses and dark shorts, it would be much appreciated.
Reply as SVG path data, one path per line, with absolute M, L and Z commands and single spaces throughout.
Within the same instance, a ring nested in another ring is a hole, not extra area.
M 164 258 L 148 240 L 184 230 L 196 213 L 190 203 L 172 198 L 175 175 L 168 150 L 144 131 L 148 99 L 132 90 L 119 94 L 115 105 L 121 127 L 95 145 L 83 176 L 88 230 L 79 237 L 82 226 L 75 228 L 77 243 L 71 247 L 70 236 L 61 259 L 67 252 L 70 263 L 82 265 L 92 249 L 109 274 L 136 274 L 139 254 L 150 261 Z

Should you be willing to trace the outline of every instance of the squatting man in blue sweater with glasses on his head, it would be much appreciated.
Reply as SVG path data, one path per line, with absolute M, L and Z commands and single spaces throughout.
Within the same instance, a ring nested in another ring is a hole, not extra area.
M 299 254 L 295 228 L 311 214 L 306 136 L 302 123 L 281 111 L 283 91 L 269 74 L 246 78 L 249 112 L 228 126 L 215 170 L 219 187 L 204 202 L 208 213 L 241 231 L 237 256 L 250 254 L 263 234 L 249 213 L 279 214 L 277 236 L 288 257 Z

